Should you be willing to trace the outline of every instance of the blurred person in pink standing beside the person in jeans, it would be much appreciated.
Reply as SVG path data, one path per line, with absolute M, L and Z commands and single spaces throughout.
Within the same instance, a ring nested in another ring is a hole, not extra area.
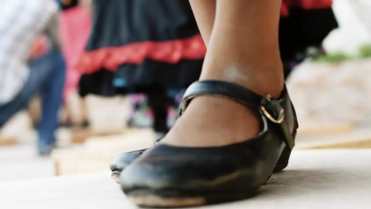
M 63 90 L 63 118 L 61 118 L 60 125 L 86 128 L 89 126 L 89 122 L 85 99 L 74 97 L 81 76 L 81 73 L 75 70 L 74 63 L 84 51 L 86 41 L 89 38 L 91 14 L 80 5 L 83 2 L 79 4 L 78 0 L 62 0 L 61 4 L 60 34 L 63 56 L 66 61 L 66 81 Z M 77 107 L 75 108 L 73 105 Z M 80 117 L 75 117 L 74 109 L 81 112 Z

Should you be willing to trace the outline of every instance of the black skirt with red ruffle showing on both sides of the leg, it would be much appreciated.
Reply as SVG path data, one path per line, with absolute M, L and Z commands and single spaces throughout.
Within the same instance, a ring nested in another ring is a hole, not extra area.
M 280 51 L 284 62 L 319 46 L 337 22 L 332 0 L 284 0 Z M 153 85 L 186 88 L 198 80 L 206 47 L 188 0 L 93 0 L 86 51 L 76 63 L 87 93 L 147 93 Z

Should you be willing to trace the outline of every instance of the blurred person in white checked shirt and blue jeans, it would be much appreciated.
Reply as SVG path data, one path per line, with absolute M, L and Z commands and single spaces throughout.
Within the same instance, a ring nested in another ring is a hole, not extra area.
M 48 155 L 55 146 L 65 81 L 59 3 L 56 0 L 1 0 L 1 5 L 0 128 L 39 93 L 43 102 L 37 147 L 40 155 Z M 43 54 L 45 41 L 36 39 L 41 33 L 49 43 L 46 54 Z

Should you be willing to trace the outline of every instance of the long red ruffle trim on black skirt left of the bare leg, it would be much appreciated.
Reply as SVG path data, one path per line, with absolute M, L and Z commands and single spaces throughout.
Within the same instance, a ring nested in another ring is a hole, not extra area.
M 187 39 L 144 41 L 85 51 L 75 63 L 75 69 L 89 74 L 101 68 L 115 71 L 124 63 L 140 64 L 145 58 L 175 64 L 180 60 L 203 59 L 205 54 L 206 46 L 201 35 L 198 34 Z

